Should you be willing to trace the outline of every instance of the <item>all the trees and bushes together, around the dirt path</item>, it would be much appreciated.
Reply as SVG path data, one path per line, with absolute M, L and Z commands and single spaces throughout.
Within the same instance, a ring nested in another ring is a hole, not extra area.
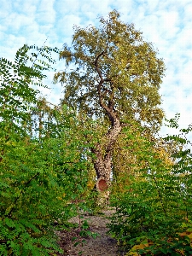
M 2 256 L 62 254 L 55 230 L 105 207 L 125 255 L 192 255 L 192 126 L 166 119 L 166 67 L 142 32 L 115 10 L 99 21 L 74 26 L 71 46 L 25 44 L 0 59 Z M 53 71 L 57 105 L 39 96 Z M 179 135 L 160 137 L 164 121 Z

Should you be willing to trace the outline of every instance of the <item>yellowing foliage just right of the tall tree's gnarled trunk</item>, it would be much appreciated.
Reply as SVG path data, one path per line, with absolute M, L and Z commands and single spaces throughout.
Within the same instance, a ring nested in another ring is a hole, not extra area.
M 149 147 L 165 165 L 172 165 L 171 154 L 175 152 L 176 145 L 154 137 L 148 128 L 139 125 L 137 121 L 127 121 L 113 148 L 113 190 L 123 192 L 130 175 L 137 175 L 138 169 L 148 164 L 147 160 L 141 161 L 139 154 L 141 150 L 146 150 L 141 147 L 143 137 L 151 142 Z

